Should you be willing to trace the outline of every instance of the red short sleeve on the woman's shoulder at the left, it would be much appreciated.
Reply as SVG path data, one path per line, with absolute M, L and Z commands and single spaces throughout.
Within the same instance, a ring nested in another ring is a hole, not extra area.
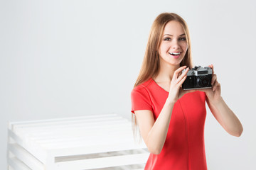
M 143 87 L 135 87 L 131 93 L 132 113 L 139 110 L 149 110 L 153 112 L 151 99 L 148 91 Z

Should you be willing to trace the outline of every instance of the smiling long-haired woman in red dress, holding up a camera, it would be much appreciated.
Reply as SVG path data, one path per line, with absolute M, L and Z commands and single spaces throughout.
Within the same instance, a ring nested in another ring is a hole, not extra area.
M 213 69 L 212 64 L 209 67 Z M 176 13 L 161 13 L 151 27 L 131 94 L 134 125 L 139 125 L 151 153 L 145 169 L 207 169 L 203 136 L 206 103 L 230 135 L 242 134 L 240 120 L 220 96 L 214 72 L 212 88 L 181 89 L 189 68 L 191 42 L 186 22 Z

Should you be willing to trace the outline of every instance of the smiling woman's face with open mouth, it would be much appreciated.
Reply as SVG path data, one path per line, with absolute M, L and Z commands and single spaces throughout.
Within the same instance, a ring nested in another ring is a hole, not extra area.
M 159 47 L 160 61 L 179 66 L 188 50 L 186 35 L 178 21 L 169 21 L 164 28 Z

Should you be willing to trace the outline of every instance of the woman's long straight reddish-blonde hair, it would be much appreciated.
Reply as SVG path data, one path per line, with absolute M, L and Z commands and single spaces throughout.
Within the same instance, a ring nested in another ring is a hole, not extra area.
M 183 27 L 186 35 L 188 50 L 186 51 L 185 57 L 181 61 L 180 66 L 186 65 L 190 69 L 193 67 L 191 57 L 191 40 L 186 21 L 184 21 L 183 18 L 178 16 L 176 13 L 161 13 L 156 17 L 154 23 L 151 26 L 149 40 L 146 45 L 146 52 L 142 62 L 142 68 L 139 72 L 139 76 L 134 84 L 134 87 L 142 84 L 144 81 L 150 79 L 151 77 L 156 77 L 156 75 L 159 73 L 159 46 L 161 44 L 161 37 L 163 35 L 164 28 L 166 23 L 169 23 L 169 21 L 178 21 L 178 23 L 181 23 L 181 26 Z M 139 137 L 139 140 L 141 140 L 141 136 L 138 135 L 139 128 L 134 113 L 132 113 L 132 128 L 134 132 L 134 138 L 137 139 Z

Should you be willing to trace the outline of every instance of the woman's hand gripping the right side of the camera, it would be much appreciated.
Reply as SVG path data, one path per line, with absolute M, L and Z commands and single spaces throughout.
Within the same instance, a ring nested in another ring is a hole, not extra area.
M 210 67 L 213 70 L 213 64 L 210 64 L 208 67 Z M 207 98 L 210 101 L 217 102 L 221 96 L 220 96 L 220 83 L 217 81 L 217 76 L 214 74 L 212 75 L 212 81 L 211 81 L 212 88 L 209 89 L 200 89 L 200 91 L 204 91 L 206 93 Z

